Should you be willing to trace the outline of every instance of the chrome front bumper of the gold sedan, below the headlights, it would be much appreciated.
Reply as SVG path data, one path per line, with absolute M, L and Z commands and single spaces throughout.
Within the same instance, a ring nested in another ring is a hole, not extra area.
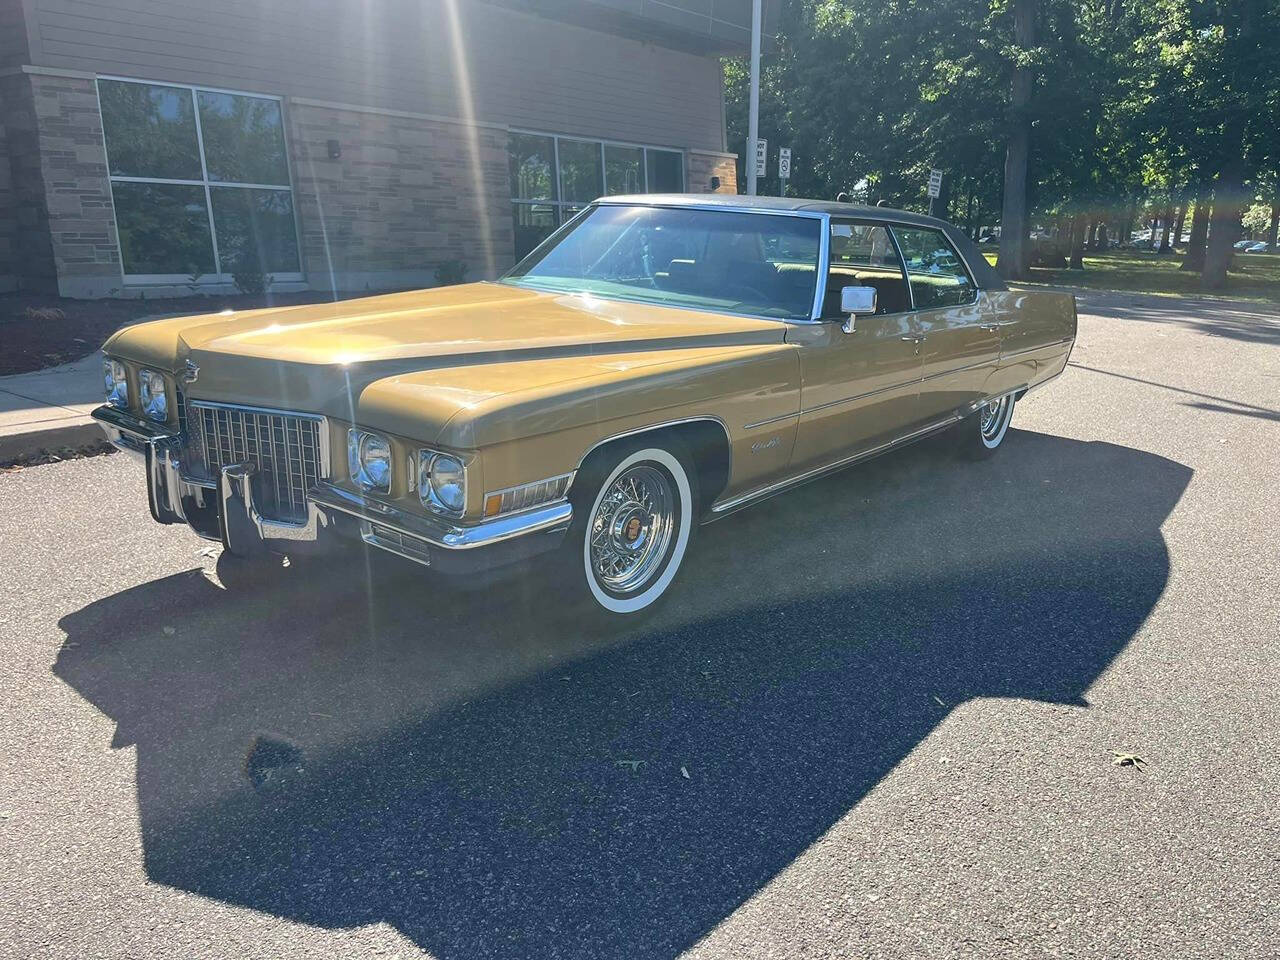
M 320 481 L 307 492 L 307 516 L 301 524 L 264 517 L 253 502 L 252 463 L 224 466 L 216 483 L 182 474 L 179 433 L 164 424 L 138 420 L 118 407 L 93 411 L 108 439 L 146 463 L 147 502 L 160 524 L 188 524 L 201 536 L 219 540 L 232 553 L 250 554 L 280 541 L 319 540 L 321 531 L 346 526 L 365 543 L 445 571 L 471 572 L 553 549 L 573 518 L 566 500 L 479 524 L 449 524 L 410 513 Z

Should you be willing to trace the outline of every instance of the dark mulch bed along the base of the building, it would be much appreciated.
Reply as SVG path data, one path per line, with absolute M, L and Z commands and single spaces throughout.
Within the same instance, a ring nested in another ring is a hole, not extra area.
M 351 294 L 367 296 L 367 294 Z M 65 300 L 37 293 L 0 294 L 0 376 L 70 364 L 97 351 L 141 316 L 214 314 L 330 300 L 326 293 L 270 293 L 172 300 Z

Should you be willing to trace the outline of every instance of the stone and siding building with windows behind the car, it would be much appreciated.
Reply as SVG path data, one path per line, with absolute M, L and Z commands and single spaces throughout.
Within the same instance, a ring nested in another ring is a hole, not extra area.
M 493 276 L 602 193 L 735 192 L 750 0 L 0 0 L 0 291 Z

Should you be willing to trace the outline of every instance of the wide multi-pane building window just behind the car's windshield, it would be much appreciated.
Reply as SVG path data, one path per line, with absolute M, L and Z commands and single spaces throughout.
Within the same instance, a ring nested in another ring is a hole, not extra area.
M 508 145 L 516 260 L 596 197 L 685 189 L 678 150 L 544 133 L 512 133 Z

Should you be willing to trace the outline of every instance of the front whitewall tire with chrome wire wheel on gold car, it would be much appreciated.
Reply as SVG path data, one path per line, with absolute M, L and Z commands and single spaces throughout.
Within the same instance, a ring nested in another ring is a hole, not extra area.
M 614 614 L 652 607 L 676 579 L 694 531 L 696 472 L 687 454 L 673 442 L 626 444 L 584 468 L 571 499 L 566 566 L 575 593 Z

